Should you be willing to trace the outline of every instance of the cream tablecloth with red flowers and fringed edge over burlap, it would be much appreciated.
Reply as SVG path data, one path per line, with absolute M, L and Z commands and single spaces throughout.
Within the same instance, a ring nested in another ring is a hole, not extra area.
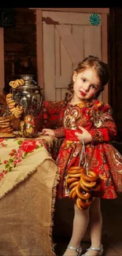
M 59 141 L 39 135 L 37 139 L 0 139 L 0 198 L 35 172 L 45 158 L 56 158 Z

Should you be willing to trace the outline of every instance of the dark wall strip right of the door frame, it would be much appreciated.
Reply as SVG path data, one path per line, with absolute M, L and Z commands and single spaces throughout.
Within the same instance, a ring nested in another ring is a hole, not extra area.
M 122 142 L 122 9 L 110 8 L 109 23 L 110 105 L 117 126 L 118 142 Z

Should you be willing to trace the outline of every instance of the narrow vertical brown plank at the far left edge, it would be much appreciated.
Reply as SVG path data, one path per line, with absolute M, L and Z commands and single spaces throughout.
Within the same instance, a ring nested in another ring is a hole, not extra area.
M 5 67 L 4 67 L 4 28 L 0 28 L 0 49 L 1 49 L 1 61 L 0 61 L 0 90 L 5 87 Z

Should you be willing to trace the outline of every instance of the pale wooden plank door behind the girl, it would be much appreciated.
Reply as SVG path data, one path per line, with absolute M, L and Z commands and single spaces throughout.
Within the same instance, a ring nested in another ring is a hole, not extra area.
M 91 13 L 43 11 L 46 100 L 64 98 L 72 71 L 79 61 L 90 54 L 102 58 L 102 27 L 101 24 L 91 25 L 90 17 Z

